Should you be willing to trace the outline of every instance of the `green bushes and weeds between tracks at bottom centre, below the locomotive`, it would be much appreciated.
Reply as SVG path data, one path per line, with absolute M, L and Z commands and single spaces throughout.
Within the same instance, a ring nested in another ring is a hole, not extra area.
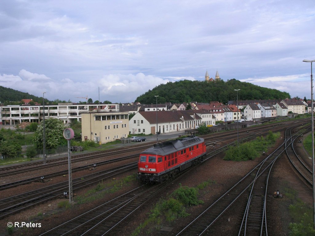
M 215 183 L 214 181 L 204 181 L 198 184 L 196 188 L 181 186 L 177 188 L 167 199 L 160 199 L 154 208 L 150 211 L 147 219 L 140 224 L 131 236 L 150 235 L 153 231 L 162 228 L 163 224 L 172 224 L 179 217 L 189 216 L 186 208 L 203 204 L 198 199 L 199 190 Z

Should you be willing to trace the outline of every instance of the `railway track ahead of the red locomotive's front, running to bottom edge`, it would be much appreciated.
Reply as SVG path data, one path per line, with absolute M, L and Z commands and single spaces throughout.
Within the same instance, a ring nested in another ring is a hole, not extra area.
M 74 219 L 53 228 L 40 236 L 103 235 L 112 231 L 125 218 L 139 209 L 167 187 L 172 180 L 150 185 L 144 184 L 111 201 L 108 201 Z

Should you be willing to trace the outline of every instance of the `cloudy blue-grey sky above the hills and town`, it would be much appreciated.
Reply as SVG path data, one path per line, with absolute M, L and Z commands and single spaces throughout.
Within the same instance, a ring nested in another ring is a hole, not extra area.
M 1 0 L 0 85 L 132 102 L 218 70 L 310 98 L 314 29 L 314 0 Z

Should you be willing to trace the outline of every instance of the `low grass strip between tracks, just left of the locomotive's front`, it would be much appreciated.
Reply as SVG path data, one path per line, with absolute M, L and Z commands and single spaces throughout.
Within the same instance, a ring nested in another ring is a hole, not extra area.
M 103 198 L 106 194 L 115 193 L 128 183 L 136 180 L 136 173 L 129 175 L 122 180 L 112 180 L 109 183 L 100 182 L 97 186 L 87 191 L 83 196 L 76 197 L 76 203 L 82 204 Z

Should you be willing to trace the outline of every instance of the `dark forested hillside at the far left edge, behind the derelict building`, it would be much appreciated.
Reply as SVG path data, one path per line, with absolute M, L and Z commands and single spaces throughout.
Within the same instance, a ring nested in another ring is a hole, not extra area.
M 43 98 L 36 97 L 29 93 L 23 93 L 12 88 L 0 86 L 0 103 L 8 103 L 9 101 L 20 102 L 22 99 L 33 99 L 34 102 L 38 103 L 43 102 Z

